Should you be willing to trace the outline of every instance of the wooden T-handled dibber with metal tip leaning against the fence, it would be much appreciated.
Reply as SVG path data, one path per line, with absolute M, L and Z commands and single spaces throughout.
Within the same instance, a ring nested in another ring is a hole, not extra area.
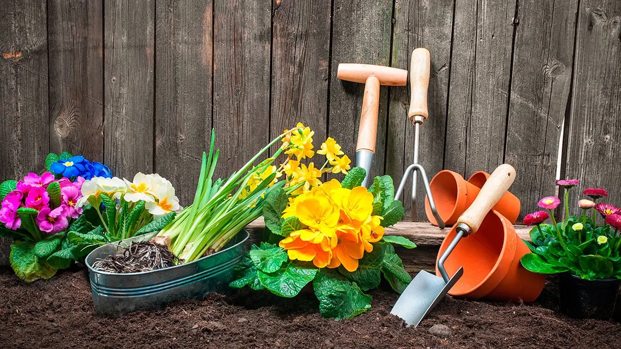
M 338 65 L 337 76 L 342 80 L 365 83 L 356 145 L 356 166 L 366 170 L 362 182 L 366 186 L 378 131 L 379 86 L 406 86 L 407 70 L 381 65 L 341 63 Z

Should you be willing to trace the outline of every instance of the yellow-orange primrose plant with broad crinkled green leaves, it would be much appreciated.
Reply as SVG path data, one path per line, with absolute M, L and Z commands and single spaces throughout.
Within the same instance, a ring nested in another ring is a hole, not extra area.
M 389 176 L 374 178 L 369 189 L 360 186 L 364 178 L 365 170 L 353 168 L 342 182 L 268 196 L 263 216 L 271 234 L 245 253 L 230 286 L 294 297 L 312 283 L 321 314 L 337 320 L 370 309 L 363 291 L 377 288 L 382 276 L 401 293 L 412 278 L 391 243 L 415 245 L 384 230 L 401 220 L 403 206 Z

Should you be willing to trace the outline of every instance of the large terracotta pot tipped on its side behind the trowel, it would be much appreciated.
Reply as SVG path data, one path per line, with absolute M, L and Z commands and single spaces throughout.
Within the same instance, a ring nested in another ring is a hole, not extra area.
M 455 234 L 453 227 L 442 242 L 437 258 Z M 455 274 L 460 266 L 464 268 L 463 276 L 448 294 L 470 299 L 534 301 L 543 290 L 545 274 L 531 273 L 520 264 L 520 258 L 528 252 L 509 220 L 497 211 L 489 212 L 479 230 L 461 239 L 448 256 L 444 265 L 449 275 Z M 440 276 L 437 268 L 435 273 Z

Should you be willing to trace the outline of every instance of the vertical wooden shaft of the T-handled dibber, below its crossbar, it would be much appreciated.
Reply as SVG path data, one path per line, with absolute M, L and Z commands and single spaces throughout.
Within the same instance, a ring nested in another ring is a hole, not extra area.
M 365 96 L 362 99 L 362 113 L 358 128 L 358 150 L 375 153 L 375 139 L 378 136 L 379 79 L 371 75 L 366 79 Z

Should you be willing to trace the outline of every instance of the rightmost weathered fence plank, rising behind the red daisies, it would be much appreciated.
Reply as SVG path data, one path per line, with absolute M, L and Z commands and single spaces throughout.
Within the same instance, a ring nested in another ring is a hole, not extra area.
M 607 201 L 621 204 L 620 1 L 580 2 L 571 114 L 566 127 L 566 177 L 580 179 L 580 189 L 605 188 L 610 194 Z M 574 191 L 570 202 L 582 197 L 580 193 Z

